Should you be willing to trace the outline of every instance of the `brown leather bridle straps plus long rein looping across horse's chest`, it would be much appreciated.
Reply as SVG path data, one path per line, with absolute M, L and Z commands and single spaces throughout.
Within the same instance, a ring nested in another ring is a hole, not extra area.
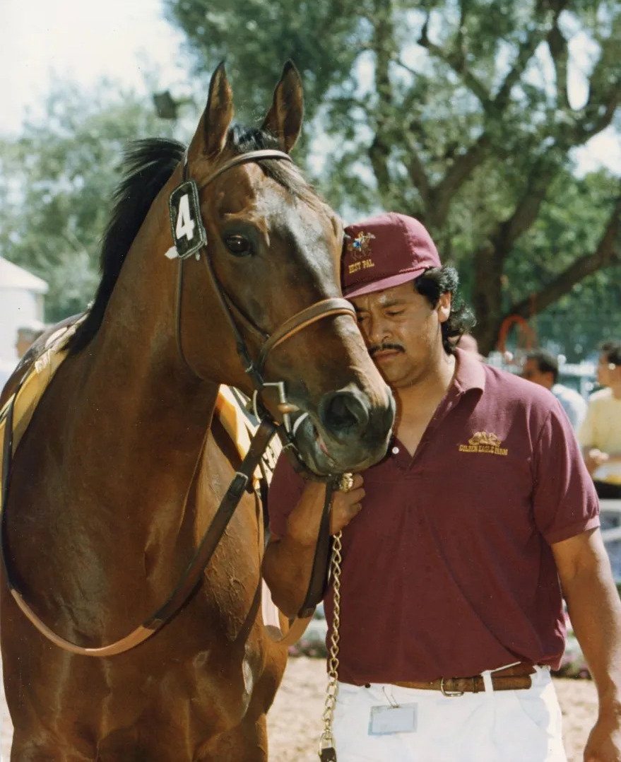
M 271 149 L 251 151 L 242 155 L 238 155 L 216 169 L 216 171 L 214 171 L 213 174 L 211 174 L 206 179 L 206 181 L 201 184 L 200 190 L 202 191 L 207 184 L 222 174 L 222 172 L 225 172 L 235 165 L 242 164 L 244 162 L 258 162 L 261 159 L 266 158 L 291 161 L 291 158 L 288 154 Z M 184 181 L 187 181 L 188 174 L 186 152 L 183 158 Z M 283 402 L 283 382 L 267 384 L 262 378 L 262 371 L 265 360 L 267 359 L 267 354 L 273 350 L 274 347 L 282 344 L 283 341 L 286 341 L 288 338 L 296 335 L 297 332 L 302 331 L 303 328 L 306 328 L 307 326 L 312 325 L 312 323 L 325 317 L 329 317 L 331 315 L 351 315 L 354 317 L 354 319 L 356 319 L 356 313 L 353 306 L 351 306 L 351 303 L 347 302 L 346 299 L 339 297 L 323 299 L 320 302 L 314 303 L 304 309 L 301 309 L 291 318 L 287 319 L 286 322 L 284 322 L 280 328 L 277 328 L 277 330 L 274 331 L 271 335 L 265 335 L 263 331 L 260 331 L 259 328 L 252 324 L 251 321 L 249 321 L 245 315 L 243 315 L 241 310 L 239 310 L 232 303 L 232 300 L 229 299 L 226 293 L 224 293 L 219 280 L 213 271 L 213 265 L 210 261 L 210 258 L 206 255 L 206 249 L 204 245 L 200 249 L 200 255 L 203 259 L 203 262 L 206 264 L 207 270 L 210 273 L 213 287 L 216 290 L 219 301 L 222 304 L 222 308 L 224 309 L 226 318 L 229 322 L 230 327 L 232 328 L 233 335 L 235 336 L 238 354 L 242 358 L 242 361 L 245 363 L 246 373 L 248 373 L 252 379 L 255 388 L 255 395 L 261 394 L 261 391 L 265 386 L 279 386 L 281 393 L 280 402 Z M 196 371 L 193 370 L 187 363 L 181 347 L 181 295 L 183 291 L 184 258 L 185 257 L 179 257 L 178 303 L 176 318 L 177 344 L 181 359 L 184 361 L 190 371 L 198 375 Z M 250 354 L 248 353 L 248 348 L 246 347 L 245 341 L 238 329 L 237 322 L 232 315 L 232 310 L 235 310 L 235 314 L 238 316 L 238 319 L 242 319 L 242 322 L 245 323 L 246 328 L 249 328 L 255 334 L 260 333 L 264 338 L 264 343 L 261 347 L 258 361 L 256 363 L 251 360 Z M 235 472 L 235 477 L 229 485 L 226 494 L 222 498 L 222 501 L 219 504 L 219 507 L 210 523 L 210 526 L 207 527 L 207 530 L 203 535 L 203 539 L 201 539 L 200 545 L 198 546 L 194 556 L 187 565 L 183 575 L 181 575 L 180 581 L 172 591 L 171 595 L 168 597 L 168 600 L 165 601 L 165 604 L 163 604 L 162 607 L 160 607 L 157 611 L 155 611 L 155 613 L 149 616 L 141 625 L 136 627 L 133 632 L 130 632 L 129 635 L 126 635 L 125 637 L 108 645 L 89 648 L 82 645 L 77 645 L 76 643 L 56 635 L 56 633 L 53 632 L 53 630 L 50 629 L 50 627 L 48 627 L 45 623 L 43 623 L 37 614 L 34 613 L 34 611 L 29 607 L 29 605 L 24 600 L 23 595 L 14 584 L 14 581 L 11 579 L 11 573 L 8 568 L 8 560 L 6 558 L 5 552 L 5 509 L 8 501 L 8 479 L 13 450 L 13 407 L 14 399 L 17 396 L 17 391 L 11 399 L 5 422 L 5 441 L 3 447 L 2 462 L 2 506 L 0 507 L 0 552 L 2 553 L 2 562 L 5 568 L 5 575 L 9 591 L 11 592 L 12 597 L 18 604 L 18 607 L 22 613 L 24 613 L 24 616 L 30 620 L 30 623 L 32 623 L 37 628 L 37 630 L 44 637 L 46 637 L 46 639 L 50 640 L 50 642 L 53 642 L 54 645 L 59 646 L 59 648 L 64 648 L 66 651 L 69 651 L 73 654 L 98 657 L 109 657 L 129 651 L 130 648 L 134 648 L 136 645 L 139 645 L 154 635 L 158 629 L 160 629 L 168 620 L 171 619 L 172 616 L 174 616 L 175 613 L 178 612 L 192 591 L 194 591 L 194 588 L 197 586 L 200 578 L 203 575 L 203 571 L 205 570 L 206 565 L 210 562 L 211 556 L 218 546 L 219 540 L 222 538 L 222 534 L 226 530 L 229 520 L 231 520 L 232 515 L 235 512 L 235 508 L 237 507 L 239 501 L 242 499 L 244 491 L 248 490 L 249 486 L 252 484 L 251 480 L 254 469 L 256 469 L 259 463 L 261 463 L 261 458 L 264 455 L 264 452 L 267 449 L 271 438 L 276 433 L 279 424 L 276 424 L 274 421 L 268 420 L 267 418 L 261 420 L 261 424 L 259 425 L 258 431 L 256 434 L 254 434 L 254 437 L 251 440 L 250 448 L 242 461 L 242 465 L 239 467 L 238 471 Z M 287 434 L 289 434 L 289 427 L 285 427 L 287 428 Z M 301 632 L 298 632 L 297 634 L 301 634 Z

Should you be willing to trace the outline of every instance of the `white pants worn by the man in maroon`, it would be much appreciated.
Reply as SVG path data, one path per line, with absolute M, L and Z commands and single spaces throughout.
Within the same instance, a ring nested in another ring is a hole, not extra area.
M 333 728 L 338 762 L 567 762 L 549 670 L 536 670 L 529 689 L 463 696 L 339 683 Z M 415 730 L 370 733 L 372 706 L 408 704 L 415 704 Z

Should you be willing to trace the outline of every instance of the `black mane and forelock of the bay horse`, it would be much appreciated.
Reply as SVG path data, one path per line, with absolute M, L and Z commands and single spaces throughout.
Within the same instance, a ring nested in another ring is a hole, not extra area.
M 279 148 L 274 136 L 239 125 L 229 130 L 229 145 L 234 153 Z M 82 351 L 99 330 L 133 239 L 155 197 L 181 161 L 184 150 L 185 146 L 176 140 L 149 138 L 130 143 L 124 152 L 123 179 L 112 197 L 114 207 L 101 246 L 101 281 L 85 320 L 67 341 L 71 354 Z M 295 165 L 277 159 L 263 160 L 260 164 L 268 177 L 295 197 L 315 208 L 323 206 L 322 199 Z

